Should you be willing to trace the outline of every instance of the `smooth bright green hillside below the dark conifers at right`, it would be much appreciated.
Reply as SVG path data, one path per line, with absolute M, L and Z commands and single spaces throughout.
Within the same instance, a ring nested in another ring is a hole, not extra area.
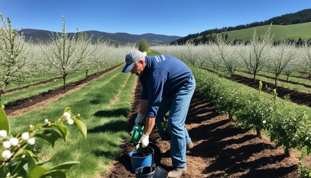
M 256 28 L 256 33 L 258 36 L 261 34 L 265 34 L 269 25 L 265 26 L 257 26 L 253 28 L 247 28 L 242 30 L 234 30 L 223 32 L 224 36 L 228 33 L 228 40 L 231 41 L 234 39 L 239 40 L 250 40 L 253 37 L 254 28 Z M 311 22 L 307 23 L 299 23 L 293 25 L 272 25 L 271 27 L 271 35 L 274 34 L 274 41 L 279 41 L 283 37 L 285 40 L 294 39 L 297 41 L 299 37 L 302 40 L 308 40 L 311 37 Z M 218 35 L 221 35 L 219 33 Z M 201 36 L 202 37 L 202 36 Z

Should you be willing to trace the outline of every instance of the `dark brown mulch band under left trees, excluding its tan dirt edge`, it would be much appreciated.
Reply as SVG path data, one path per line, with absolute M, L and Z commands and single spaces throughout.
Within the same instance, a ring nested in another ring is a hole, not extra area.
M 121 64 L 121 65 L 123 65 L 123 64 Z M 80 84 L 88 83 L 88 82 L 90 82 L 90 81 L 92 81 L 94 79 L 97 79 L 98 77 L 100 77 L 100 76 L 102 76 L 104 74 L 109 73 L 110 71 L 120 67 L 121 65 L 111 67 L 111 68 L 106 69 L 106 70 L 104 70 L 104 71 L 102 71 L 100 73 L 95 73 L 95 74 L 89 75 L 87 77 L 87 79 L 82 79 L 82 80 L 76 81 L 74 83 L 67 84 L 66 85 L 66 91 L 75 89 Z M 27 99 L 22 99 L 22 100 L 14 102 L 14 103 L 7 104 L 5 106 L 5 108 L 4 108 L 4 111 L 7 114 L 10 114 L 10 113 L 13 113 L 15 111 L 21 110 L 23 108 L 28 108 L 28 107 L 30 107 L 32 105 L 35 105 L 36 103 L 40 103 L 42 101 L 48 100 L 50 98 L 53 98 L 56 95 L 65 94 L 66 91 L 63 89 L 63 87 L 61 87 L 61 88 L 58 88 L 58 89 L 50 90 L 50 91 L 48 91 L 48 92 L 46 92 L 44 94 L 32 96 L 32 97 L 27 98 Z

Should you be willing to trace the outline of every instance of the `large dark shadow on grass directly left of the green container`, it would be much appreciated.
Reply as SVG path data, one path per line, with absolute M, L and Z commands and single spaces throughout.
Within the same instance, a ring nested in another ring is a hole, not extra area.
M 88 129 L 88 133 L 98 133 L 98 132 L 120 132 L 127 131 L 128 121 L 125 120 L 113 120 L 103 125 Z

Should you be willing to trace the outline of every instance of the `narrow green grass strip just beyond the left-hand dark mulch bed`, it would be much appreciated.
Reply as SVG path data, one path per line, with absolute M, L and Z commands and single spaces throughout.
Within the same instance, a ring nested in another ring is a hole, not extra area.
M 93 68 L 89 70 L 88 75 L 95 74 L 98 72 L 98 70 L 103 71 L 106 69 L 107 67 L 101 67 L 100 69 Z M 80 72 L 77 72 L 75 74 L 72 74 L 66 77 L 66 84 L 71 84 L 82 79 L 85 79 L 85 71 L 80 71 Z M 21 91 L 16 91 L 11 94 L 4 94 L 1 96 L 2 103 L 4 105 L 7 105 L 10 103 L 16 102 L 18 100 L 21 100 L 21 99 L 26 99 L 26 98 L 30 98 L 32 96 L 36 96 L 39 94 L 47 93 L 50 90 L 58 89 L 61 87 L 63 87 L 63 79 L 56 80 L 56 82 L 50 82 L 47 84 L 30 87 L 27 89 L 23 89 Z

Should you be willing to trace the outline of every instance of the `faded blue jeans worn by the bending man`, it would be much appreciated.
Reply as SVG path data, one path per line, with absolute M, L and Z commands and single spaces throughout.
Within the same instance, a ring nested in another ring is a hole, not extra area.
M 170 153 L 173 167 L 186 166 L 186 144 L 191 142 L 185 127 L 189 104 L 195 89 L 194 77 L 189 77 L 171 97 L 164 96 L 156 115 L 156 126 L 160 133 L 168 133 L 161 127 L 165 114 L 169 111 L 169 132 L 171 134 Z

